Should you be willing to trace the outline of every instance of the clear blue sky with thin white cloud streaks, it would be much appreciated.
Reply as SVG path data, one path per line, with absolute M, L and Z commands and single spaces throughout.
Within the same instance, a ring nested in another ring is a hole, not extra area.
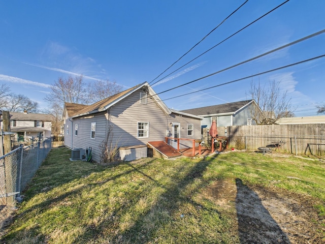
M 2 1 L 0 83 L 46 108 L 59 77 L 84 75 L 125 89 L 153 84 L 238 32 L 281 3 L 249 0 L 164 75 L 244 0 L 229 1 Z M 170 92 L 249 58 L 325 29 L 325 1 L 290 0 L 190 64 L 153 85 L 170 108 L 183 110 L 249 99 L 250 82 L 275 80 L 297 116 L 317 115 L 325 103 L 325 57 L 203 92 L 170 99 L 325 54 L 325 34 Z

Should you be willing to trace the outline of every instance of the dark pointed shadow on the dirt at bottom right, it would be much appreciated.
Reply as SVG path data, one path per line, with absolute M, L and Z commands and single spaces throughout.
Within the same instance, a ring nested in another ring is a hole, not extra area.
M 290 243 L 258 195 L 236 179 L 236 210 L 240 243 Z

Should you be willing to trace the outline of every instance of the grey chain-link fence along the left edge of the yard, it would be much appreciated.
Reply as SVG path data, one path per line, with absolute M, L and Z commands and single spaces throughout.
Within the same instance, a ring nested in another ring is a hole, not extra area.
M 27 147 L 21 144 L 0 157 L 0 209 L 16 206 L 21 191 L 51 150 L 51 142 L 51 139 L 47 139 Z

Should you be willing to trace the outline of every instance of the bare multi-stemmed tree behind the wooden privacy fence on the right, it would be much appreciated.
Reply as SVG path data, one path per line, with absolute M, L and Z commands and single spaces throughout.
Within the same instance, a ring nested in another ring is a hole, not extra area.
M 267 88 L 259 82 L 257 85 L 251 82 L 250 96 L 261 108 L 251 111 L 252 119 L 257 125 L 272 125 L 280 118 L 294 116 L 291 99 L 287 98 L 287 92 L 281 94 L 280 82 L 270 81 Z

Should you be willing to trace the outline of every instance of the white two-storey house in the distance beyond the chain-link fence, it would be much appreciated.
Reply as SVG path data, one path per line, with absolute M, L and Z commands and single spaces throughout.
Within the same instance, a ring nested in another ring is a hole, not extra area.
M 51 127 L 54 116 L 42 113 L 10 112 L 10 130 L 15 132 L 15 138 L 51 137 Z

